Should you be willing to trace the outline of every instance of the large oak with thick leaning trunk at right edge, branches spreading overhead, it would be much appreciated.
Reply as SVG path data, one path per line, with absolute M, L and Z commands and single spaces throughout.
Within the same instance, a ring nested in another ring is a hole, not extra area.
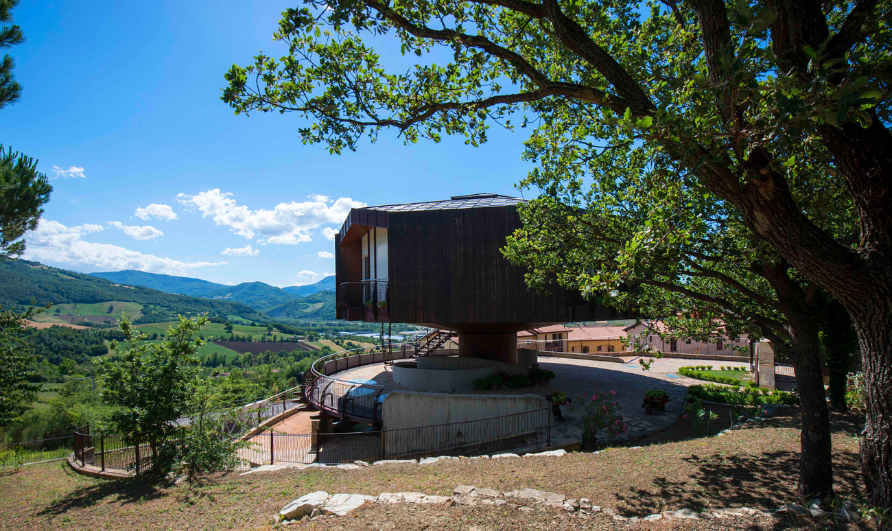
M 309 116 L 304 141 L 334 152 L 388 127 L 476 144 L 516 112 L 659 146 L 846 307 L 865 372 L 863 476 L 892 509 L 890 5 L 306 0 L 280 22 L 290 53 L 234 66 L 223 99 Z M 428 62 L 388 71 L 374 47 L 387 35 Z M 847 190 L 855 245 L 797 202 L 810 184 L 798 169 L 818 165 Z

